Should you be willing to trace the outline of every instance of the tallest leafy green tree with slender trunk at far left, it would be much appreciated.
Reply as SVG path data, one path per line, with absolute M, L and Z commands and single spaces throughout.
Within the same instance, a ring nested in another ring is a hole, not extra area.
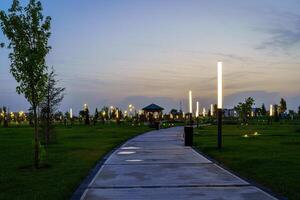
M 47 83 L 46 55 L 50 51 L 50 17 L 44 17 L 40 1 L 30 0 L 26 7 L 13 0 L 11 8 L 0 11 L 0 25 L 11 49 L 10 72 L 18 82 L 18 94 L 23 94 L 33 109 L 34 164 L 39 167 L 40 139 L 38 134 L 38 105 L 45 96 Z M 4 44 L 1 45 L 5 46 Z

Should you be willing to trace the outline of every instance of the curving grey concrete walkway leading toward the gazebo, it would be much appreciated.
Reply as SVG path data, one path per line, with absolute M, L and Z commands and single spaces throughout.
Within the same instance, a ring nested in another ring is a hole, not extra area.
M 185 147 L 182 134 L 175 127 L 129 140 L 107 159 L 81 199 L 275 199 Z

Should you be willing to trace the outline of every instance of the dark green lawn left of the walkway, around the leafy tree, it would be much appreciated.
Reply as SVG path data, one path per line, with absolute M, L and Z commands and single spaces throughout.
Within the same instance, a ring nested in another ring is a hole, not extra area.
M 58 127 L 49 168 L 34 170 L 33 129 L 0 128 L 0 199 L 68 199 L 96 162 L 113 147 L 148 131 L 145 126 Z

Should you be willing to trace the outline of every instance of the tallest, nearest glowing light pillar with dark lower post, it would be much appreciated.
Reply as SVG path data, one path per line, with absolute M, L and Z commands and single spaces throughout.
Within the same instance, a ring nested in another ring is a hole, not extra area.
M 217 119 L 218 119 L 218 148 L 222 148 L 222 62 L 218 62 L 218 111 L 217 111 Z

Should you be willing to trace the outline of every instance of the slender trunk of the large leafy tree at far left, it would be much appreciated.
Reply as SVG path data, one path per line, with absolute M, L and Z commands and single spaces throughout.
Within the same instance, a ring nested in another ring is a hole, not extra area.
M 36 169 L 40 165 L 40 141 L 39 141 L 39 132 L 38 132 L 38 118 L 36 106 L 33 106 L 33 118 L 34 118 L 34 166 Z

